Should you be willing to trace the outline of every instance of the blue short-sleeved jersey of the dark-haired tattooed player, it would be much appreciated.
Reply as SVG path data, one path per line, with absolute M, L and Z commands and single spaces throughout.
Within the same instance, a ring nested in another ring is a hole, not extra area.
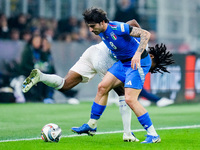
M 140 44 L 140 38 L 130 36 L 129 25 L 117 21 L 110 21 L 106 31 L 99 36 L 119 60 L 133 57 Z

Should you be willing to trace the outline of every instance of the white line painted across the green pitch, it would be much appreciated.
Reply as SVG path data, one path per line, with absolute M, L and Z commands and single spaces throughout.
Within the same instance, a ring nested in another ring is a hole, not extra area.
M 156 130 L 174 130 L 174 129 L 191 129 L 191 128 L 200 128 L 200 125 L 192 125 L 192 126 L 176 126 L 176 127 L 164 127 L 164 128 L 157 128 Z M 141 132 L 145 131 L 144 129 L 137 129 L 132 130 L 132 132 Z M 96 134 L 114 134 L 114 133 L 123 133 L 123 131 L 110 131 L 110 132 L 97 132 Z M 83 135 L 65 135 L 62 137 L 76 137 L 76 136 L 88 136 L 87 134 Z M 40 137 L 37 138 L 26 138 L 26 139 L 13 139 L 13 140 L 0 140 L 2 142 L 16 142 L 16 141 L 30 141 L 30 140 L 38 140 L 41 139 Z

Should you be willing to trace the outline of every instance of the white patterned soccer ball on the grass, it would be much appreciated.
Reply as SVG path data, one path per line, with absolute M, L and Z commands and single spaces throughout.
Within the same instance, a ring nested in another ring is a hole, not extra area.
M 57 124 L 49 123 L 42 128 L 41 138 L 45 142 L 59 142 L 61 134 L 61 128 Z

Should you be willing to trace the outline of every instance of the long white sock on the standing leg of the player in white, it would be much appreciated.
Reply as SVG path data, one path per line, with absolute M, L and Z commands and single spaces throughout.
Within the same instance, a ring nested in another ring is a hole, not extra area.
M 119 96 L 119 111 L 122 116 L 124 133 L 131 132 L 131 109 L 125 102 L 124 96 Z

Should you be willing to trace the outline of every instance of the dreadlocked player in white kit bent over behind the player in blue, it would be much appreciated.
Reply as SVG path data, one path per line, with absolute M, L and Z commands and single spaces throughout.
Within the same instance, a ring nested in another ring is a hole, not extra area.
M 128 24 L 136 27 L 140 27 L 139 24 L 133 19 L 127 22 Z M 150 54 L 155 58 L 159 58 L 160 54 L 165 53 L 166 48 L 164 45 L 152 47 Z M 155 53 L 156 52 L 156 53 Z M 165 58 L 170 57 L 170 55 L 165 56 Z M 157 59 L 162 62 L 162 59 Z M 165 60 L 164 60 L 165 61 Z M 56 88 L 60 91 L 67 91 L 80 82 L 89 82 L 95 74 L 99 74 L 101 78 L 106 74 L 107 70 L 116 62 L 109 52 L 106 45 L 101 42 L 99 44 L 89 47 L 83 55 L 80 57 L 79 61 L 70 69 L 65 78 L 58 75 L 51 75 L 42 73 L 38 69 L 34 69 L 30 76 L 26 78 L 23 83 L 22 91 L 28 92 L 31 87 L 38 82 L 43 82 L 47 86 Z M 159 64 L 156 61 L 156 64 Z M 163 62 L 162 62 L 163 64 Z M 60 88 L 58 88 L 60 87 Z M 131 133 L 131 111 L 129 106 L 124 101 L 123 88 L 117 87 L 115 91 L 119 95 L 120 113 L 122 115 L 122 121 L 124 126 L 124 141 L 138 141 L 138 139 Z M 141 92 L 142 93 L 142 92 Z

